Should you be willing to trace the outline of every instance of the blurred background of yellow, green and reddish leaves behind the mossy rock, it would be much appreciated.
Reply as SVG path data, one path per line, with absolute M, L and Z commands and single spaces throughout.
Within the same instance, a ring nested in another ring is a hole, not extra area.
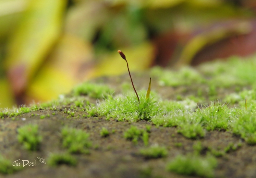
M 0 0 L 0 107 L 82 81 L 256 52 L 255 0 Z

